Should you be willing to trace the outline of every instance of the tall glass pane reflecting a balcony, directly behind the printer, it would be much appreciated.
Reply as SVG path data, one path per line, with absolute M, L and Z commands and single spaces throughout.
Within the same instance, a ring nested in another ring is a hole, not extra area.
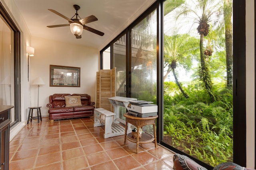
M 156 10 L 130 31 L 130 94 L 156 104 Z

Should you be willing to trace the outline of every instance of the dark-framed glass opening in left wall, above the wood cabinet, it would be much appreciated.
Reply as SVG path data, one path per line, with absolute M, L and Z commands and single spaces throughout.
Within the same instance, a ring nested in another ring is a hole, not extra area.
M 0 3 L 0 105 L 11 109 L 11 127 L 20 114 L 20 32 Z

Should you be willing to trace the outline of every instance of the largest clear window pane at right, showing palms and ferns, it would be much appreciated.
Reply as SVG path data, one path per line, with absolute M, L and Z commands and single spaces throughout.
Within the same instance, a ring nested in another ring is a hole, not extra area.
M 163 142 L 233 162 L 232 1 L 164 2 Z

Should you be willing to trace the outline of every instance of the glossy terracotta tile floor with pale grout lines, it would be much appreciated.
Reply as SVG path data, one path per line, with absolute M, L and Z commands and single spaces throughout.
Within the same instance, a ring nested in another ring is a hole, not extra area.
M 172 170 L 173 152 L 124 135 L 103 138 L 93 119 L 32 120 L 10 141 L 10 170 Z

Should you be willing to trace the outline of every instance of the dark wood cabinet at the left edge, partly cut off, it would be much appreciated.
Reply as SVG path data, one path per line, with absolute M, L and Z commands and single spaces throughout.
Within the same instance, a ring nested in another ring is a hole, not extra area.
M 0 170 L 9 170 L 10 110 L 14 106 L 0 106 Z

